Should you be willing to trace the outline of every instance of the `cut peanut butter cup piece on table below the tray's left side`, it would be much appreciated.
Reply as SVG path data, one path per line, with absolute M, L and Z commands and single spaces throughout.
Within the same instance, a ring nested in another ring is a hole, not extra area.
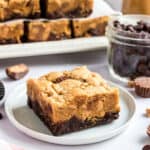
M 23 78 L 29 71 L 29 68 L 25 64 L 17 64 L 6 68 L 6 74 L 13 80 Z

